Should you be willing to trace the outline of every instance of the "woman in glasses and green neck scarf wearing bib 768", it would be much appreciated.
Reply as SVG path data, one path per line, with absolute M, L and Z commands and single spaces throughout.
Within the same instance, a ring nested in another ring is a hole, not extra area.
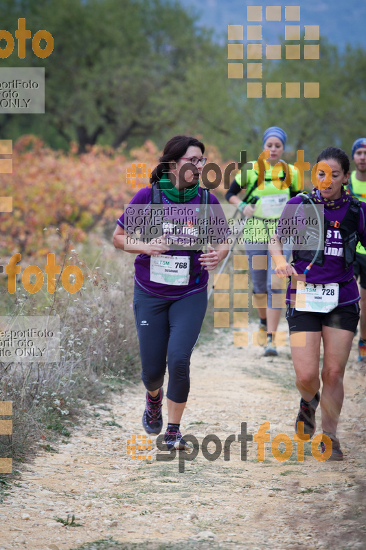
M 172 137 L 165 144 L 160 164 L 152 172 L 152 188 L 137 191 L 129 208 L 117 220 L 113 235 L 115 248 L 138 254 L 134 311 L 141 379 L 147 390 L 142 424 L 148 434 L 159 434 L 163 426 L 162 386 L 168 362 L 168 428 L 164 439 L 170 450 L 187 446 L 180 422 L 190 391 L 190 357 L 207 308 L 207 271 L 216 268 L 228 249 L 229 226 L 220 203 L 199 186 L 198 178 L 207 160 L 204 152 L 205 146 L 194 137 Z M 160 204 L 163 211 L 159 225 L 161 238 L 139 241 L 126 248 L 129 232 L 126 212 L 134 208 L 148 212 L 153 204 Z M 201 209 L 206 209 L 206 214 L 200 219 Z M 213 239 L 209 240 L 214 246 L 208 244 L 208 252 L 203 253 L 199 245 L 192 250 L 190 244 L 207 226 L 205 219 L 219 219 L 220 234 L 217 227 L 211 228 Z M 183 244 L 178 248 L 177 243 Z

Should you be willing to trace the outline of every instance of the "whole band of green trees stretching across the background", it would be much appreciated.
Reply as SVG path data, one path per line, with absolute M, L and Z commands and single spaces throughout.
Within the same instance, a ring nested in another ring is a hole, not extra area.
M 18 17 L 34 34 L 54 36 L 38 58 L 27 40 L 2 67 L 44 66 L 45 115 L 0 114 L 0 137 L 35 133 L 56 147 L 78 142 L 129 148 L 161 146 L 176 133 L 215 144 L 225 158 L 262 148 L 268 126 L 283 126 L 288 149 L 314 158 L 324 146 L 350 151 L 365 135 L 366 52 L 339 52 L 321 38 L 319 60 L 263 60 L 262 82 L 281 82 L 282 98 L 247 98 L 247 79 L 227 78 L 227 46 L 196 26 L 196 14 L 168 0 L 0 0 L 1 26 L 14 36 Z M 286 42 L 288 43 L 288 42 Z M 304 40 L 301 39 L 301 50 Z M 282 41 L 284 57 L 285 42 Z M 302 54 L 301 54 L 302 55 Z M 245 63 L 244 63 L 245 67 Z M 245 76 L 245 75 L 244 75 Z M 286 98 L 284 83 L 319 82 L 319 98 Z M 264 93 L 265 95 L 265 93 Z M 288 153 L 293 159 L 291 153 Z

